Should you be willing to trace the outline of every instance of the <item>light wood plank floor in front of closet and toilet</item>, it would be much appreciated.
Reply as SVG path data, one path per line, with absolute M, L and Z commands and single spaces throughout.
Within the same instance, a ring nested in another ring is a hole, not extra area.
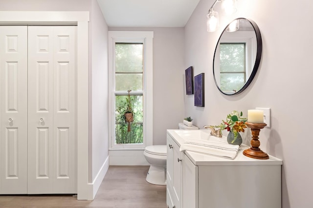
M 93 201 L 72 196 L 0 196 L 0 208 L 167 208 L 166 186 L 146 182 L 149 166 L 110 166 Z

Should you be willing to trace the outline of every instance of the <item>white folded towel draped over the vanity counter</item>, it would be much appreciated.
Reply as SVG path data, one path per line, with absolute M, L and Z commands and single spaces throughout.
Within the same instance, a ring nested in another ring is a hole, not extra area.
M 239 145 L 230 145 L 221 142 L 212 142 L 198 139 L 188 139 L 179 151 L 194 151 L 198 153 L 234 159 L 238 153 Z

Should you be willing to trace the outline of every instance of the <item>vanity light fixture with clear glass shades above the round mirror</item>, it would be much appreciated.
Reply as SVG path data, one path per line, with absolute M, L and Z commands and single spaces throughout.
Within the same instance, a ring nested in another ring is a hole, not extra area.
M 213 10 L 217 2 L 222 2 L 222 14 L 224 16 L 231 15 L 237 11 L 237 0 L 215 0 L 206 15 L 206 30 L 208 32 L 215 32 L 219 28 L 219 13 Z

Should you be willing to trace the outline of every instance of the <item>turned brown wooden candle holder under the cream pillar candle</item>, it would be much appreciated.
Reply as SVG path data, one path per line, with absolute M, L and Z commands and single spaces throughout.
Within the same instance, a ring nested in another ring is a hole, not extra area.
M 251 129 L 252 139 L 251 139 L 251 148 L 246 149 L 243 154 L 247 157 L 252 157 L 255 159 L 268 159 L 268 154 L 264 151 L 260 150 L 260 141 L 259 141 L 259 133 L 260 130 L 267 126 L 266 123 L 249 123 L 246 122 L 246 126 Z

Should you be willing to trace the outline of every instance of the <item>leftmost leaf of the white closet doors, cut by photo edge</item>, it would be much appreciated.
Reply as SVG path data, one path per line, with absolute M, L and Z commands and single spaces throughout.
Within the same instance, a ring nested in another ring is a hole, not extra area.
M 0 26 L 0 193 L 27 193 L 27 26 Z

